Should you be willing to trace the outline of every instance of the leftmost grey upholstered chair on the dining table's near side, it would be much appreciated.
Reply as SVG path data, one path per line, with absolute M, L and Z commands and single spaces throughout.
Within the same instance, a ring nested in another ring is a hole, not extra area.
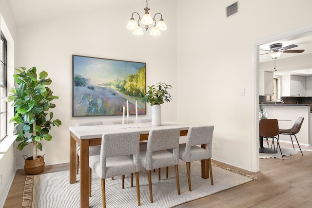
M 89 194 L 91 197 L 91 172 L 93 170 L 101 179 L 103 208 L 106 207 L 105 179 L 134 172 L 136 173 L 137 205 L 140 206 L 139 139 L 139 132 L 104 133 L 100 154 L 89 157 Z

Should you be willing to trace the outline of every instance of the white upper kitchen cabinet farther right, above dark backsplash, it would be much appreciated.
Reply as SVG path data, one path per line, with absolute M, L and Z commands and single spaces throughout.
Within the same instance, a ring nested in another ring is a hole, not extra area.
M 306 96 L 306 77 L 295 75 L 282 76 L 281 96 Z

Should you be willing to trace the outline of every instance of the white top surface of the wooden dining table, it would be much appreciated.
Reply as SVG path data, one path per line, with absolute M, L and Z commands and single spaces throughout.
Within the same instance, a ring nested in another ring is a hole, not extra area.
M 94 139 L 101 138 L 103 133 L 140 132 L 140 134 L 146 134 L 149 133 L 150 130 L 180 128 L 180 130 L 183 131 L 188 130 L 190 127 L 197 126 L 207 125 L 167 121 L 162 122 L 161 126 L 152 126 L 152 123 L 135 123 L 124 124 L 124 127 L 130 128 L 122 129 L 122 124 L 111 124 L 99 126 L 71 126 L 69 127 L 69 130 L 73 132 L 79 139 Z

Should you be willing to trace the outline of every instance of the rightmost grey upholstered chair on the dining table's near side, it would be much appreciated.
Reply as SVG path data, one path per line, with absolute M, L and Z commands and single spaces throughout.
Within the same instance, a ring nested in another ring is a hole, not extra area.
M 207 160 L 210 173 L 211 185 L 214 185 L 213 171 L 211 167 L 211 149 L 213 141 L 214 126 L 190 127 L 187 133 L 186 143 L 179 145 L 179 158 L 186 162 L 189 190 L 191 187 L 191 162 Z M 206 149 L 197 145 L 205 145 Z M 207 164 L 205 162 L 205 164 Z M 208 174 L 209 177 L 209 174 Z

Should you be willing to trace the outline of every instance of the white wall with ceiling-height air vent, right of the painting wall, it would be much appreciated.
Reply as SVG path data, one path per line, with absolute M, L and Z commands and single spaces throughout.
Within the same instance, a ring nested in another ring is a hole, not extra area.
M 254 48 L 261 39 L 312 24 L 312 1 L 239 0 L 239 13 L 226 19 L 234 2 L 177 1 L 177 120 L 215 125 L 213 158 L 256 171 Z

